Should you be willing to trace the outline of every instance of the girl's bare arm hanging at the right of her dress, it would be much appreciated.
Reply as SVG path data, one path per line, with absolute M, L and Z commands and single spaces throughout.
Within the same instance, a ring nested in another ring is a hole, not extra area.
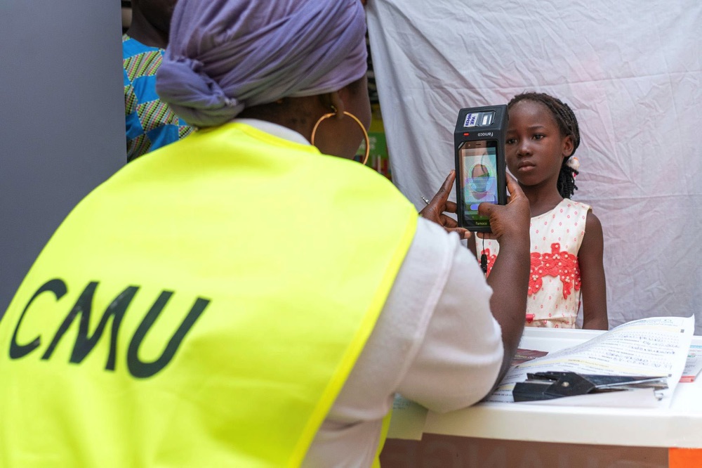
M 585 220 L 585 237 L 578 251 L 583 292 L 583 328 L 588 330 L 609 329 L 603 252 L 602 224 L 590 211 Z

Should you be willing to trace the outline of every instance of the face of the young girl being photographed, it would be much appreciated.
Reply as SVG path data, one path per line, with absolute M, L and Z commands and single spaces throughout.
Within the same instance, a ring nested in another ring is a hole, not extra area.
M 505 153 L 508 169 L 522 186 L 555 189 L 563 158 L 572 152 L 572 138 L 561 134 L 544 104 L 520 100 L 512 105 Z

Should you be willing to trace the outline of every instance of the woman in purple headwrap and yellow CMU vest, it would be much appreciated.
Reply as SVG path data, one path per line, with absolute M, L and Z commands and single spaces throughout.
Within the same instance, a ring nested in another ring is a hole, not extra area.
M 510 180 L 481 205 L 493 294 L 457 235 L 344 159 L 365 73 L 358 0 L 179 0 L 157 89 L 198 130 L 88 195 L 22 282 L 0 464 L 369 466 L 396 392 L 486 395 L 524 326 L 528 203 Z

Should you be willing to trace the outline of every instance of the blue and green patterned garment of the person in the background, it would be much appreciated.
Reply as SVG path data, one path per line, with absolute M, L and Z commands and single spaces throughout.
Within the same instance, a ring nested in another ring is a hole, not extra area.
M 163 55 L 162 48 L 122 36 L 127 161 L 178 141 L 192 131 L 156 93 L 156 70 Z

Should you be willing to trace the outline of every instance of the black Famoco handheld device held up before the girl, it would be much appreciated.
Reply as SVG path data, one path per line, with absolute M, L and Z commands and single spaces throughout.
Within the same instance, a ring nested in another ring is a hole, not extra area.
M 490 220 L 478 214 L 482 202 L 505 204 L 507 183 L 504 134 L 507 106 L 461 109 L 454 133 L 458 226 L 490 232 Z

